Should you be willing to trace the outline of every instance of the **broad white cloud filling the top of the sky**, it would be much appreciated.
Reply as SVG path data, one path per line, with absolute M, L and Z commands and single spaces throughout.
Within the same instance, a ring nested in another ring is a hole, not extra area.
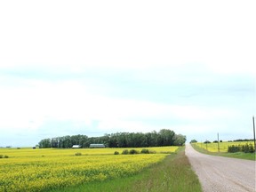
M 1 3 L 1 65 L 253 71 L 253 1 L 16 3 Z

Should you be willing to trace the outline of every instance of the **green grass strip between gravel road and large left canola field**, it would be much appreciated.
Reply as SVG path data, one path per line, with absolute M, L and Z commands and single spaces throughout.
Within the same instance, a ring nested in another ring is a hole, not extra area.
M 76 187 L 60 188 L 60 190 L 53 191 L 202 191 L 196 173 L 191 169 L 188 157 L 185 156 L 184 151 L 184 147 L 179 148 L 176 153 L 166 156 L 164 161 L 154 164 L 132 176 L 113 180 L 95 181 Z

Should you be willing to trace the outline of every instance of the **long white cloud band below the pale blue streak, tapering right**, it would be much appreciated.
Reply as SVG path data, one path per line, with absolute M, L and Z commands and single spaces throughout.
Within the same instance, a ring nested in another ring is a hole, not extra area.
M 87 121 L 87 124 L 93 120 L 99 120 L 100 124 L 116 122 L 113 123 L 115 127 L 115 124 L 132 118 L 176 118 L 181 121 L 205 122 L 240 115 L 234 108 L 202 107 L 196 103 L 160 104 L 153 101 L 114 99 L 92 93 L 86 85 L 73 80 L 56 83 L 38 80 L 25 82 L 23 86 L 1 88 L 0 115 L 4 117 L 1 127 L 7 124 L 26 129 L 38 127 L 48 118 Z M 124 127 L 124 123 L 119 127 Z

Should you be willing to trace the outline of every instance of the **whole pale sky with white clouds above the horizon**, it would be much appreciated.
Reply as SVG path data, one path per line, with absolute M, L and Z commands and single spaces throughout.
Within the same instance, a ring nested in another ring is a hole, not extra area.
M 171 129 L 252 139 L 255 1 L 1 1 L 0 146 Z

